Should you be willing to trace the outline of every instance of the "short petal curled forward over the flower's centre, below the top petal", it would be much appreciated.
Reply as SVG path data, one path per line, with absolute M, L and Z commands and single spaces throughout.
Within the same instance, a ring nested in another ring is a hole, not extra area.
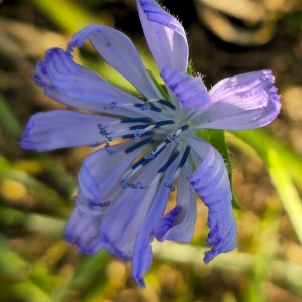
M 210 105 L 210 97 L 200 77 L 179 72 L 170 66 L 161 71 L 166 85 L 185 108 L 201 110 Z

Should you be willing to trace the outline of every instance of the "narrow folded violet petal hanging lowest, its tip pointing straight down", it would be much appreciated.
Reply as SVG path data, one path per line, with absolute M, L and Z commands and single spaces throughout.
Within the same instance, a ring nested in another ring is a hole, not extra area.
M 132 257 L 132 275 L 136 283 L 142 287 L 145 286 L 143 276 L 152 263 L 150 244 L 153 241 L 154 231 L 164 214 L 170 193 L 169 188 L 165 187 L 164 183 L 171 181 L 176 167 L 177 162 L 174 162 L 167 169 L 135 241 Z

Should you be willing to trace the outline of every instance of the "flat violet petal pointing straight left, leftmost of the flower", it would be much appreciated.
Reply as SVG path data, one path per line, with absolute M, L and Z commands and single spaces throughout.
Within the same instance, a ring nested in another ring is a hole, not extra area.
M 100 135 L 98 124 L 109 124 L 115 120 L 69 110 L 40 112 L 27 123 L 20 146 L 45 151 L 103 143 L 107 138 Z

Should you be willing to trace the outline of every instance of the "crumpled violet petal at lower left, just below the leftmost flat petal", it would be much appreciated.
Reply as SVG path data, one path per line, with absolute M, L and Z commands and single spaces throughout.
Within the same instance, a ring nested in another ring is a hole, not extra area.
M 133 145 L 135 142 L 132 141 L 118 144 L 110 151 L 121 152 Z M 142 150 L 143 147 L 129 154 L 110 155 L 105 149 L 100 149 L 85 159 L 79 173 L 77 207 L 64 232 L 66 239 L 76 244 L 81 252 L 91 254 L 107 247 L 100 236 L 100 225 L 122 194 L 119 181 L 123 172 Z

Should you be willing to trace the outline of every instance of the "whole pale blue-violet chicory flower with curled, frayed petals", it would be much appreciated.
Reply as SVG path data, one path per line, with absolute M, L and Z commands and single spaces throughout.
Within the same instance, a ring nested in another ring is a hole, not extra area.
M 100 114 L 70 110 L 35 114 L 20 144 L 38 151 L 104 146 L 84 160 L 76 207 L 65 237 L 83 253 L 106 248 L 122 260 L 131 260 L 133 277 L 144 286 L 154 237 L 190 242 L 196 221 L 196 192 L 209 209 L 206 244 L 211 249 L 204 261 L 236 247 L 224 161 L 194 132 L 262 127 L 277 117 L 281 105 L 270 70 L 239 74 L 207 91 L 200 77 L 186 73 L 188 43 L 181 24 L 155 0 L 136 3 L 169 97 L 150 78 L 126 35 L 104 25 L 90 25 L 73 36 L 66 51 L 46 51 L 33 79 L 50 98 Z M 143 99 L 73 61 L 73 49 L 87 39 Z M 116 140 L 122 142 L 112 144 Z M 177 205 L 164 215 L 176 181 Z

